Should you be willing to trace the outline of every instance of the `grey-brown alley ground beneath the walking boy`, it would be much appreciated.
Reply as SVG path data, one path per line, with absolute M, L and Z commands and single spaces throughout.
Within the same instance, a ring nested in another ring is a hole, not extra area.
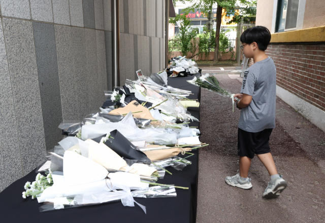
M 230 73 L 231 74 L 231 73 Z M 222 72 L 216 77 L 237 93 L 241 82 Z M 279 98 L 271 153 L 288 187 L 273 200 L 262 198 L 269 174 L 255 156 L 248 177 L 253 188 L 243 190 L 224 182 L 239 168 L 237 124 L 229 98 L 201 91 L 201 141 L 197 222 L 325 222 L 325 133 Z

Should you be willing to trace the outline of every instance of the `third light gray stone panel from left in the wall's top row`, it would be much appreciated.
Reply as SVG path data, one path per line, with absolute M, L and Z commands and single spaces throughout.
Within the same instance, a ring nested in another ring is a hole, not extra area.
M 69 0 L 52 1 L 54 23 L 70 25 Z

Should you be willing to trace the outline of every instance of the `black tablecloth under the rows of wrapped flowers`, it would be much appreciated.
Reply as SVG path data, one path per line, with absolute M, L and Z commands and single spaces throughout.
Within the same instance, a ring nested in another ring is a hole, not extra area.
M 200 88 L 188 86 L 184 78 L 169 78 L 169 84 L 174 87 L 186 89 L 187 87 L 195 94 L 190 98 L 198 99 Z M 186 87 L 186 88 L 185 88 Z M 194 86 L 195 87 L 195 86 Z M 187 89 L 189 89 L 187 88 Z M 190 111 L 191 114 L 200 118 L 199 109 Z M 199 126 L 198 123 L 192 124 Z M 35 170 L 31 171 L 21 179 L 17 180 L 0 193 L 0 221 L 7 222 L 195 222 L 197 207 L 197 185 L 198 185 L 198 151 L 192 151 L 193 156 L 188 160 L 191 165 L 182 171 L 167 167 L 173 175 L 166 174 L 160 184 L 174 184 L 176 186 L 188 187 L 189 190 L 177 189 L 176 198 L 135 198 L 137 202 L 146 206 L 147 214 L 135 204 L 135 207 L 124 207 L 120 201 L 104 203 L 100 205 L 60 209 L 47 212 L 39 212 L 43 203 L 37 200 L 22 198 L 24 184 L 35 181 Z M 186 154 L 187 155 L 187 154 Z

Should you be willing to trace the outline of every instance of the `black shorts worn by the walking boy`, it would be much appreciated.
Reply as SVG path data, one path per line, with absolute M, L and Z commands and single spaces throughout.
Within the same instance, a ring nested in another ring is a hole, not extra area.
M 248 132 L 238 128 L 238 156 L 254 158 L 254 154 L 270 152 L 269 140 L 273 128 Z

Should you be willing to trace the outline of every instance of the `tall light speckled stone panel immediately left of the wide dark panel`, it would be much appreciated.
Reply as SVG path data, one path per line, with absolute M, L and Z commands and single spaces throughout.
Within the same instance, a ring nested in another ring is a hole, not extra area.
M 23 174 L 45 158 L 45 139 L 31 22 L 3 19 Z M 17 142 L 17 140 L 16 140 Z

